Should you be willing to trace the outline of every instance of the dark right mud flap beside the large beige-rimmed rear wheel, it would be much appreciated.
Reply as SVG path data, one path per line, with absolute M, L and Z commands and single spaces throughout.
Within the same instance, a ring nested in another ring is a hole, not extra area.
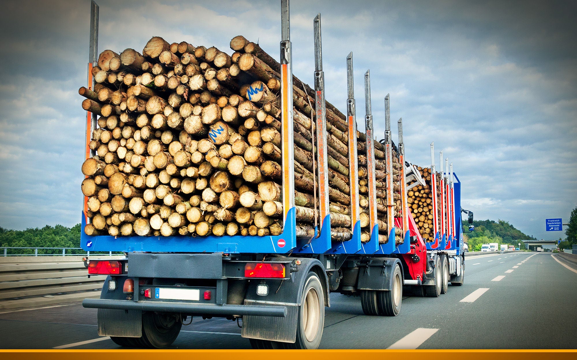
M 286 302 L 261 302 L 245 300 L 245 305 L 282 305 L 287 308 L 287 316 L 249 316 L 242 317 L 243 338 L 273 340 L 294 343 L 297 340 L 298 305 Z

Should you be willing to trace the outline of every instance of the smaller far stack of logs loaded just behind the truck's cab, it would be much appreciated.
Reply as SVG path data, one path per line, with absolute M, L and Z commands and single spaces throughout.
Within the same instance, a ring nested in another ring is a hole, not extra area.
M 425 180 L 425 185 L 417 185 L 407 191 L 407 203 L 423 240 L 434 241 L 433 193 L 430 190 L 430 168 L 418 166 L 417 169 L 421 173 L 423 180 Z

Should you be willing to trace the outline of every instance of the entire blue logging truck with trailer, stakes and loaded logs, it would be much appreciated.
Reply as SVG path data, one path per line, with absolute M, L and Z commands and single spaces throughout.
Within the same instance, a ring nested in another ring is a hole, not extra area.
M 369 71 L 357 130 L 352 53 L 347 114 L 325 101 L 320 14 L 314 89 L 293 77 L 281 10 L 280 63 L 242 36 L 233 55 L 153 37 L 143 54 L 96 60 L 91 42 L 81 246 L 124 254 L 89 255 L 89 276 L 108 275 L 83 301 L 99 335 L 166 347 L 189 317 L 223 317 L 254 348 L 311 349 L 331 293 L 396 316 L 403 291 L 463 285 L 461 214 L 473 213 L 452 163 L 441 151 L 436 168 L 433 143 L 430 167 L 407 161 L 388 95 L 375 140 Z

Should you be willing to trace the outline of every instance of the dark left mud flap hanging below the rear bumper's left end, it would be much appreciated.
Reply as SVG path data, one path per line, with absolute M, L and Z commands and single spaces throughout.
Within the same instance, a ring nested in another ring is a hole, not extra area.
M 98 309 L 98 335 L 140 338 L 143 313 L 138 310 Z

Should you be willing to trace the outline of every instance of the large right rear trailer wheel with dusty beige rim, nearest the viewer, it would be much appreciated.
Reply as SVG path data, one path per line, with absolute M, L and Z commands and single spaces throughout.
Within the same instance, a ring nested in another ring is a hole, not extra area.
M 274 342 L 284 348 L 316 349 L 323 336 L 324 294 L 319 275 L 310 271 L 302 289 L 301 306 L 298 309 L 297 341 L 295 343 Z

